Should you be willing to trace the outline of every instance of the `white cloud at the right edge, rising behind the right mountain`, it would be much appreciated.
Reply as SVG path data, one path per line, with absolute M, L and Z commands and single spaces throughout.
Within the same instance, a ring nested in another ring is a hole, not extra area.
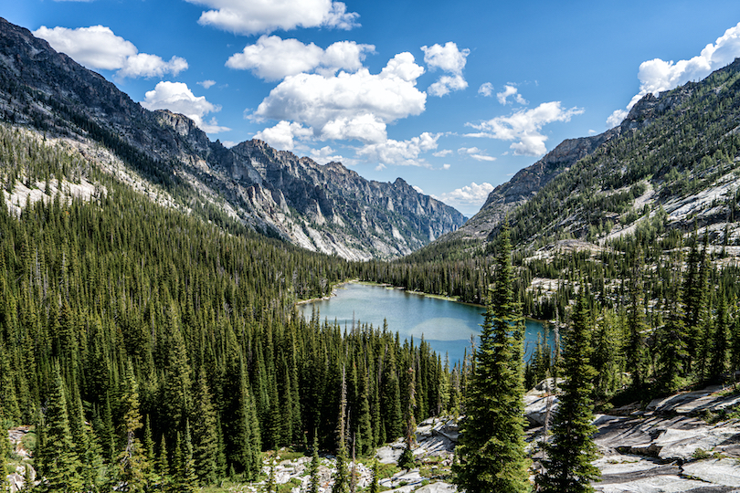
M 640 92 L 627 105 L 627 110 L 615 110 L 607 120 L 609 127 L 618 125 L 629 110 L 646 94 L 675 89 L 691 80 L 703 79 L 717 68 L 728 65 L 740 57 L 740 23 L 724 31 L 714 44 L 710 43 L 696 57 L 677 62 L 654 58 L 640 64 L 638 79 Z

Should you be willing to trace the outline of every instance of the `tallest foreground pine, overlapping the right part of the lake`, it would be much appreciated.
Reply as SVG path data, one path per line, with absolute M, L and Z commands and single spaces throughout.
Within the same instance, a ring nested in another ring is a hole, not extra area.
M 508 226 L 499 235 L 495 285 L 486 306 L 465 401 L 455 482 L 469 493 L 528 491 L 524 454 L 523 319 L 513 295 Z

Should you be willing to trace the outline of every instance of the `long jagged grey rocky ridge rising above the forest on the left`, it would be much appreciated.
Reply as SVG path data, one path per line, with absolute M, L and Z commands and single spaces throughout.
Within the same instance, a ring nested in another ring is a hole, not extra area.
M 143 109 L 111 82 L 0 19 L 0 111 L 88 158 L 124 164 L 158 200 L 207 208 L 269 236 L 347 259 L 406 255 L 461 226 L 458 211 L 400 178 L 368 181 L 257 140 L 227 149 L 194 121 Z M 120 168 L 120 167 L 119 167 Z

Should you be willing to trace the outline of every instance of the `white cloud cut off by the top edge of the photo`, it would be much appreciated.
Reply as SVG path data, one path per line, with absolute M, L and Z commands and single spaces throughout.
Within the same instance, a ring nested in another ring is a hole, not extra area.
M 198 23 L 236 34 L 255 35 L 296 27 L 352 29 L 358 14 L 347 12 L 342 2 L 332 0 L 186 0 L 213 8 L 201 14 Z

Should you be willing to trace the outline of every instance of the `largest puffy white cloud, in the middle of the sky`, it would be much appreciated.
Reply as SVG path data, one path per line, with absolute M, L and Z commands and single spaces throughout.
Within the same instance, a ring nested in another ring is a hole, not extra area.
M 298 121 L 322 140 L 385 142 L 386 124 L 424 111 L 427 95 L 416 88 L 422 73 L 413 55 L 400 53 L 379 74 L 360 68 L 331 77 L 288 76 L 251 117 Z

